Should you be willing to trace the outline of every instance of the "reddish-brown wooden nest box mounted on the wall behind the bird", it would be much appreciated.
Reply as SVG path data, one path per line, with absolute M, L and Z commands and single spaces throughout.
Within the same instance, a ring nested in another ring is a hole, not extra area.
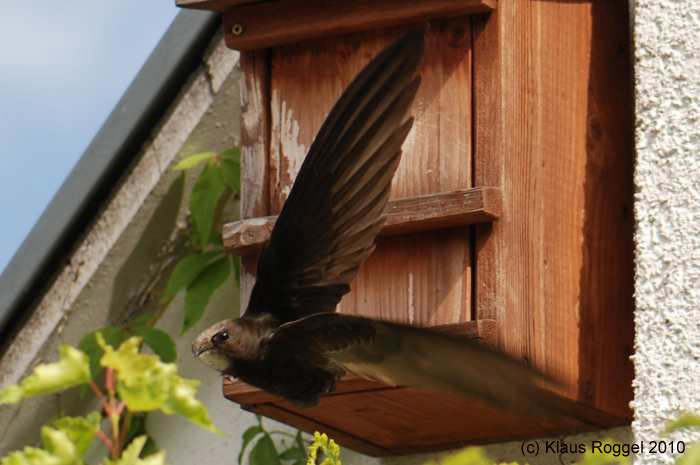
M 242 307 L 256 253 L 355 74 L 429 20 L 416 116 L 376 252 L 339 310 L 480 338 L 570 382 L 589 421 L 515 417 L 357 378 L 299 409 L 234 381 L 243 408 L 372 455 L 624 424 L 631 413 L 632 90 L 627 2 L 179 0 L 242 50 Z

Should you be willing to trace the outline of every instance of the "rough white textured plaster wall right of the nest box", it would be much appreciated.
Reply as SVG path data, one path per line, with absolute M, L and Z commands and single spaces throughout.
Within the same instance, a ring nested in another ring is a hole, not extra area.
M 639 442 L 683 410 L 700 413 L 700 2 L 635 3 Z

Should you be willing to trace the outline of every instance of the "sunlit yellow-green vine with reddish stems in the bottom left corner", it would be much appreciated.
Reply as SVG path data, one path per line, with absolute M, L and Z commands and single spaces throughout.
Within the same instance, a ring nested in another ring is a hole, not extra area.
M 96 373 L 88 354 L 62 345 L 57 362 L 38 365 L 19 384 L 0 390 L 0 404 L 87 386 L 100 410 L 44 425 L 42 447 L 11 452 L 0 459 L 1 465 L 83 465 L 96 440 L 108 453 L 103 465 L 164 465 L 165 452 L 157 450 L 143 429 L 141 415 L 152 410 L 180 415 L 219 432 L 204 404 L 195 398 L 199 381 L 180 377 L 175 364 L 165 363 L 157 355 L 141 353 L 139 337 L 125 340 L 118 348 L 99 332 L 95 340 L 102 350 L 98 364 L 104 371 L 104 387 L 94 380 Z

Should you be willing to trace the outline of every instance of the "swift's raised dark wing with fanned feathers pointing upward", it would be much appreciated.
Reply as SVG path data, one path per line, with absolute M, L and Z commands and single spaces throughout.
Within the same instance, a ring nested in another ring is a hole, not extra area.
M 377 55 L 329 113 L 260 255 L 246 316 L 333 311 L 350 290 L 411 129 L 423 36 L 411 31 Z

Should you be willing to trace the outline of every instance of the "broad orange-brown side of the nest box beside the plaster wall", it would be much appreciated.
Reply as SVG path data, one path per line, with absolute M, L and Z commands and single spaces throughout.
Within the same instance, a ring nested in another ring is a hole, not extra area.
M 562 392 L 628 417 L 632 119 L 627 2 L 502 2 L 474 17 L 478 318 Z

